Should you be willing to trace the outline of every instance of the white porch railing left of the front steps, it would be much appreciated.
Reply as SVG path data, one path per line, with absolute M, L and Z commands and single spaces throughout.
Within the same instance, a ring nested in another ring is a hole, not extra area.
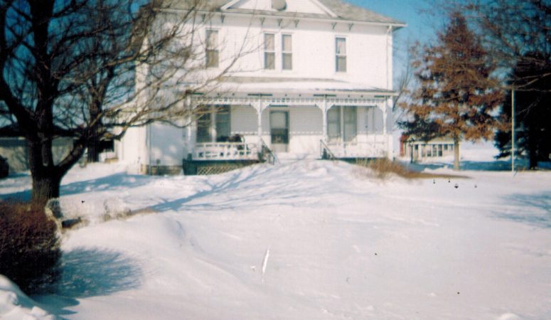
M 208 142 L 196 144 L 193 160 L 255 160 L 257 144 L 245 142 Z

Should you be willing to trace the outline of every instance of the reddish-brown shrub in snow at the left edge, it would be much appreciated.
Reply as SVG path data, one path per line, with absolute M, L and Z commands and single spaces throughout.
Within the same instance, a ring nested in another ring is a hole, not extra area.
M 57 279 L 60 256 L 58 227 L 42 206 L 0 202 L 0 274 L 38 292 Z

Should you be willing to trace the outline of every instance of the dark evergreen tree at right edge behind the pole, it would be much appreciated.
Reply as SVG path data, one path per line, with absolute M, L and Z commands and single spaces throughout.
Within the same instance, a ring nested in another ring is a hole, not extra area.
M 530 169 L 538 161 L 549 161 L 551 156 L 551 64 L 545 66 L 526 61 L 549 60 L 542 53 L 529 53 L 518 61 L 513 70 L 515 87 L 515 155 L 528 156 Z M 511 120 L 511 92 L 505 94 L 502 116 Z M 499 158 L 510 156 L 510 126 L 496 132 L 495 144 Z

